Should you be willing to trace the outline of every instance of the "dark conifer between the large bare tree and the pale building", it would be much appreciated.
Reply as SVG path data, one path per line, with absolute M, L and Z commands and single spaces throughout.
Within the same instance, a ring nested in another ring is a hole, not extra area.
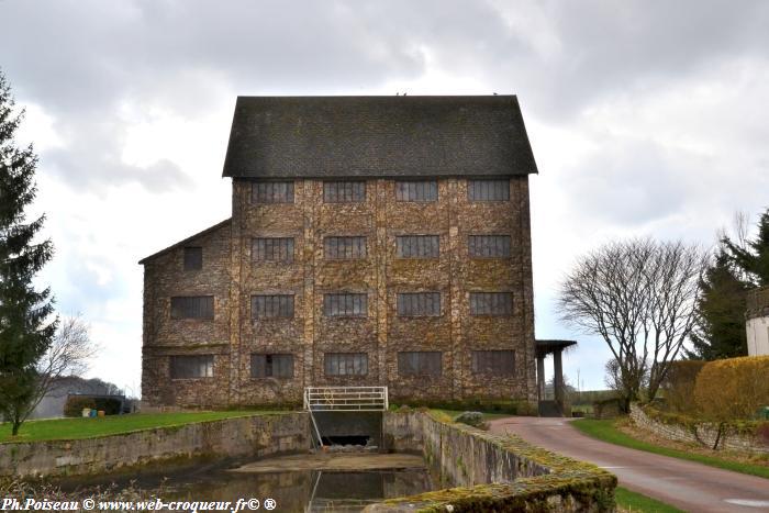
M 725 248 L 720 247 L 700 280 L 698 322 L 690 335 L 692 349 L 684 349 L 687 358 L 715 360 L 747 356 L 746 289 Z

